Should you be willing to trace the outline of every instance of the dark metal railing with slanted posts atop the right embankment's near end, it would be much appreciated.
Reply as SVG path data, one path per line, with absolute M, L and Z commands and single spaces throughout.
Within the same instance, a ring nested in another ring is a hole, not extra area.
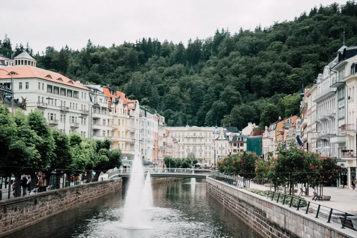
M 315 202 L 306 201 L 300 197 L 293 197 L 286 193 L 279 193 L 270 190 L 268 190 L 267 198 L 271 198 L 271 201 L 276 200 L 277 203 L 281 202 L 283 205 L 288 205 L 289 207 L 296 207 L 296 210 L 303 208 L 305 210 L 305 214 L 316 214 L 315 218 L 324 219 L 327 223 L 333 222 L 341 224 L 342 229 L 350 228 L 357 231 L 357 214 L 355 213 L 340 211 Z

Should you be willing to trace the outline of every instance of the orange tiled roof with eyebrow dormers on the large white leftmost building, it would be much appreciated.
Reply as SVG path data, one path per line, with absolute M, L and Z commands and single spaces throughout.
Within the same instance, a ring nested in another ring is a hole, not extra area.
M 26 78 L 38 78 L 38 79 L 44 79 L 47 81 L 52 81 L 56 83 L 61 83 L 67 86 L 72 86 L 72 87 L 77 87 L 81 88 L 84 90 L 89 90 L 87 87 L 80 85 L 74 80 L 71 80 L 59 73 L 55 73 L 49 70 L 44 70 L 40 68 L 36 68 L 33 66 L 7 66 L 4 67 L 3 69 L 9 71 L 9 72 L 15 72 L 16 74 L 13 74 L 12 77 L 14 79 L 26 79 Z M 46 76 L 50 76 L 46 77 Z M 62 81 L 58 79 L 62 79 Z M 4 70 L 0 70 L 0 79 L 11 79 L 11 76 Z M 71 83 L 70 83 L 71 82 Z

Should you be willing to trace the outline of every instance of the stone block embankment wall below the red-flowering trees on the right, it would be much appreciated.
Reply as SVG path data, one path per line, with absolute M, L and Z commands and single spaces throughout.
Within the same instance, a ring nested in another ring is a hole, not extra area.
M 341 225 L 326 223 L 315 218 L 316 214 L 305 214 L 276 201 L 244 189 L 237 189 L 211 178 L 206 179 L 207 193 L 242 219 L 264 238 L 353 238 L 357 233 L 341 229 Z

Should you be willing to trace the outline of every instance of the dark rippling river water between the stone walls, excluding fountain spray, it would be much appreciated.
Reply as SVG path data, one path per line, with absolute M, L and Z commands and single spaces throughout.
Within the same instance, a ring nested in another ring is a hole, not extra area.
M 206 194 L 197 179 L 153 185 L 151 229 L 120 227 L 125 191 L 116 192 L 41 221 L 4 238 L 259 238 L 250 227 Z

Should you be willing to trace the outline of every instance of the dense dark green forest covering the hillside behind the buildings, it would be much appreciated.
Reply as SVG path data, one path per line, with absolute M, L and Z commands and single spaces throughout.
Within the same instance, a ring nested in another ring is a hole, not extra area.
M 28 43 L 12 46 L 6 36 L 0 54 L 26 50 L 37 67 L 117 88 L 155 108 L 169 126 L 230 123 L 241 129 L 253 122 L 262 128 L 298 113 L 301 85 L 311 85 L 336 56 L 344 30 L 346 45 L 357 45 L 356 16 L 356 2 L 347 1 L 254 31 L 217 29 L 187 44 L 144 37 L 108 48 L 88 40 L 81 50 L 48 46 L 37 54 Z

